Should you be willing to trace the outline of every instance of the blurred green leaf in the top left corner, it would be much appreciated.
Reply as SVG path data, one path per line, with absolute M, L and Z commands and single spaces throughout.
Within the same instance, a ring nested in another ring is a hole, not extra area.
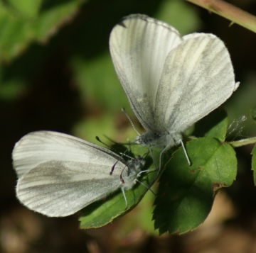
M 78 13 L 85 0 L 55 1 L 55 4 L 44 6 L 39 11 L 41 2 L 3 4 L 0 1 L 0 61 L 9 61 L 28 47 L 33 41 L 46 42 L 50 35 L 56 33 L 60 26 Z M 18 1 L 17 1 L 18 2 Z M 46 3 L 44 1 L 43 3 Z M 10 8 L 13 7 L 13 8 Z M 14 9 L 33 16 L 24 18 Z

